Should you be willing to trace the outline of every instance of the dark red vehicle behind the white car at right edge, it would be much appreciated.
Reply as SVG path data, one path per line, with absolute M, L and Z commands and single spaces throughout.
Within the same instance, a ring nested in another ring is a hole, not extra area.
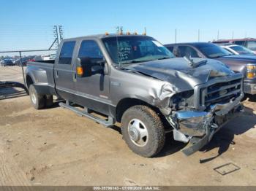
M 245 39 L 221 39 L 217 41 L 213 41 L 214 44 L 223 44 L 223 43 L 232 43 L 241 45 L 243 47 L 249 48 L 256 53 L 256 39 L 253 38 L 245 38 Z

